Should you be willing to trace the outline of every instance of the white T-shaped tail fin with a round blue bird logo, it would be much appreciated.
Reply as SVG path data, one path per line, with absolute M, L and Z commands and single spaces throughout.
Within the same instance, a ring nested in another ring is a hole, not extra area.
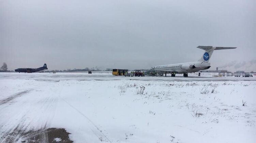
M 198 61 L 200 62 L 209 62 L 213 50 L 222 50 L 222 49 L 235 49 L 237 47 L 213 47 L 213 46 L 198 46 L 197 48 L 205 50 L 204 55 L 202 55 L 201 59 Z

